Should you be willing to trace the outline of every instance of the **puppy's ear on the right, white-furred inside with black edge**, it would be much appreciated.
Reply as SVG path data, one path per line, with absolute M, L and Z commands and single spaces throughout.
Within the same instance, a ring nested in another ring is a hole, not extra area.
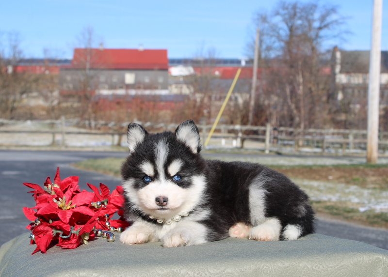
M 201 137 L 199 136 L 198 127 L 193 120 L 186 120 L 185 122 L 180 123 L 177 130 L 175 130 L 175 135 L 177 136 L 177 139 L 186 144 L 194 154 L 201 151 Z

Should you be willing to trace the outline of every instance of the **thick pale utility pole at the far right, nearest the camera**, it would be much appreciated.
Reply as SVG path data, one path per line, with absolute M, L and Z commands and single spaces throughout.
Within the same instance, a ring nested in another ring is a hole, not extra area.
M 375 164 L 379 149 L 379 100 L 381 64 L 381 18 L 383 0 L 373 0 L 372 42 L 369 61 L 367 163 Z

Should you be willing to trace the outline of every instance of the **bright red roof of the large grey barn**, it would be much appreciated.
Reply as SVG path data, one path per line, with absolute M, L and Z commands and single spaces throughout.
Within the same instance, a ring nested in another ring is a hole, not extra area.
M 108 69 L 168 69 L 167 49 L 75 48 L 72 67 Z

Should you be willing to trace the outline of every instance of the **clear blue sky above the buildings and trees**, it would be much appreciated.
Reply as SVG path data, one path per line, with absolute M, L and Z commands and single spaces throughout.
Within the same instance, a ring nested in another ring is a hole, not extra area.
M 43 57 L 47 48 L 71 58 L 76 37 L 86 27 L 108 48 L 166 48 L 169 58 L 190 58 L 214 48 L 223 58 L 245 57 L 253 15 L 277 1 L 196 0 L 0 0 L 0 44 L 17 32 L 25 57 Z M 370 48 L 372 0 L 321 0 L 338 5 L 349 17 L 353 34 L 339 45 L 346 50 Z M 382 50 L 388 50 L 388 3 L 383 3 Z M 0 46 L 1 46 L 0 45 Z

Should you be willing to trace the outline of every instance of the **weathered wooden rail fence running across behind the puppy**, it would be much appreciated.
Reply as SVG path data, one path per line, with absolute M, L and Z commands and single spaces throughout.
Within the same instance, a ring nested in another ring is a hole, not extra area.
M 40 125 L 50 125 L 47 130 L 11 130 L 4 128 L 6 125 L 16 125 L 20 121 L 9 121 L 0 119 L 0 145 L 3 144 L 1 135 L 7 133 L 18 134 L 48 134 L 51 136 L 51 143 L 48 145 L 60 144 L 66 146 L 66 137 L 77 135 L 105 135 L 111 136 L 111 145 L 120 145 L 124 142 L 128 123 L 107 123 L 107 122 L 81 122 L 77 120 L 50 120 L 34 121 Z M 140 122 L 139 122 L 140 123 Z M 151 132 L 164 130 L 174 131 L 178 124 L 154 124 L 140 123 Z M 82 131 L 69 131 L 69 126 L 82 127 Z M 87 127 L 85 129 L 85 127 Z M 101 130 L 105 131 L 101 131 Z M 207 138 L 211 125 L 198 124 L 202 141 Z M 56 142 L 56 136 L 60 136 L 60 143 Z M 269 152 L 271 148 L 292 147 L 295 150 L 300 148 L 321 149 L 322 152 L 328 150 L 355 151 L 366 150 L 367 132 L 366 130 L 344 130 L 344 129 L 294 129 L 288 127 L 266 126 L 244 126 L 244 125 L 223 125 L 216 127 L 210 140 L 209 146 L 215 140 L 232 140 L 235 147 L 245 148 L 246 142 L 255 142 L 258 148 Z M 388 132 L 379 133 L 379 149 L 383 152 L 388 150 Z

